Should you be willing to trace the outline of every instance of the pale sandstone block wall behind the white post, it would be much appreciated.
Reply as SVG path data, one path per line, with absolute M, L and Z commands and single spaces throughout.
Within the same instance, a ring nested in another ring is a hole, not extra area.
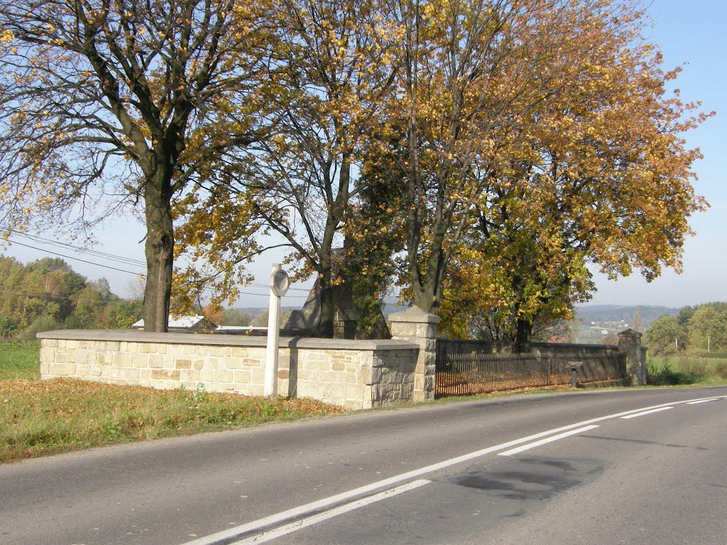
M 39 334 L 41 378 L 263 395 L 265 337 L 69 330 Z M 411 400 L 419 344 L 283 338 L 278 392 L 346 408 Z

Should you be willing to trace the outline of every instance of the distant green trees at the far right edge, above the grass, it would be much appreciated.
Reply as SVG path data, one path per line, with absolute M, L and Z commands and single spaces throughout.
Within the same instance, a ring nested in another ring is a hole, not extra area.
M 687 306 L 660 316 L 643 336 L 651 355 L 727 353 L 727 302 Z

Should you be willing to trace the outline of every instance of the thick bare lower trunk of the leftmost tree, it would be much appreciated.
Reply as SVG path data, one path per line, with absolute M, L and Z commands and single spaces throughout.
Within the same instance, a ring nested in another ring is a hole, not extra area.
M 174 265 L 174 227 L 172 225 L 171 190 L 160 175 L 147 182 L 146 215 L 146 286 L 144 288 L 144 331 L 164 333 L 169 320 Z M 155 183 L 156 182 L 156 183 Z

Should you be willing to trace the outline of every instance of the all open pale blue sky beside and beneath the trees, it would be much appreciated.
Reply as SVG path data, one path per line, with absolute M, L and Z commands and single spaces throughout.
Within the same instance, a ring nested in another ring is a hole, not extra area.
M 653 23 L 646 30 L 646 37 L 662 49 L 664 68 L 683 66 L 683 72 L 675 86 L 681 90 L 686 102 L 702 101 L 702 111 L 714 110 L 717 115 L 707 120 L 699 129 L 686 135 L 690 148 L 699 148 L 704 155 L 694 164 L 698 176 L 696 192 L 710 203 L 710 209 L 691 218 L 690 225 L 696 236 L 684 246 L 683 273 L 664 270 L 660 278 L 647 283 L 636 273 L 628 278 L 608 280 L 595 274 L 597 291 L 590 304 L 641 304 L 665 307 L 683 307 L 711 301 L 727 301 L 727 185 L 723 183 L 723 159 L 727 158 L 727 45 L 722 38 L 723 24 L 727 20 L 727 1 L 723 0 L 653 0 L 649 7 Z M 143 262 L 145 230 L 132 218 L 111 219 L 97 230 L 97 244 L 93 249 L 113 256 Z M 41 234 L 44 238 L 60 243 L 73 243 L 58 239 L 55 233 Z M 36 248 L 30 249 L 20 243 Z M 116 262 L 108 255 L 88 254 L 68 246 L 17 239 L 7 249 L 0 249 L 6 256 L 21 262 L 41 257 L 64 257 L 73 270 L 89 280 L 105 277 L 111 290 L 121 296 L 131 296 L 138 291 L 138 275 L 144 267 Z M 55 254 L 61 254 L 57 256 Z M 76 259 L 70 259 L 76 258 Z M 100 265 L 92 265 L 79 259 Z M 255 275 L 254 284 L 243 288 L 237 307 L 265 307 L 268 305 L 270 267 L 280 256 L 266 255 L 250 267 Z M 115 267 L 128 272 L 113 270 Z M 292 286 L 282 304 L 300 307 L 310 283 Z

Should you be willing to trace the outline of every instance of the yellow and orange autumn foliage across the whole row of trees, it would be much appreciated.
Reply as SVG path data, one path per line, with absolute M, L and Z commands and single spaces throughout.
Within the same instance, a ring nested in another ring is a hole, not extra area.
M 639 1 L 145 5 L 3 1 L 0 198 L 4 226 L 107 187 L 143 203 L 158 315 L 170 244 L 180 304 L 220 305 L 270 234 L 321 281 L 324 334 L 354 271 L 525 346 L 591 270 L 680 270 L 708 115 Z

